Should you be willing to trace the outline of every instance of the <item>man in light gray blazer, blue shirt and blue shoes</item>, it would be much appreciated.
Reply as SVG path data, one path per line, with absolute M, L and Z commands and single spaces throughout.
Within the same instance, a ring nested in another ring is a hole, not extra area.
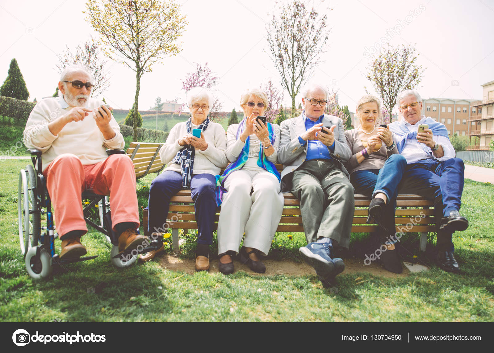
M 302 114 L 281 123 L 281 190 L 300 200 L 307 238 L 300 254 L 315 268 L 323 285 L 329 286 L 345 269 L 343 260 L 334 258 L 333 249 L 348 249 L 350 243 L 354 189 L 342 163 L 350 159 L 351 151 L 343 121 L 324 114 L 327 89 L 310 84 L 301 93 Z

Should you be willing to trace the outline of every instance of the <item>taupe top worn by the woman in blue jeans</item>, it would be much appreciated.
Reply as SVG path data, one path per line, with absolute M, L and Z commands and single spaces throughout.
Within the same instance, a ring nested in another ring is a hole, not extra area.
M 345 137 L 346 142 L 352 151 L 352 157 L 350 157 L 346 164 L 346 168 L 350 174 L 357 170 L 381 169 L 384 166 L 386 159 L 388 159 L 388 156 L 398 153 L 398 148 L 396 147 L 396 137 L 393 135 L 395 147 L 391 151 L 387 151 L 386 145 L 383 143 L 378 151 L 371 153 L 369 158 L 364 159 L 362 163 L 359 164 L 357 161 L 357 154 L 364 149 L 364 145 L 362 145 L 362 141 L 360 140 L 359 130 L 347 130 L 345 131 Z

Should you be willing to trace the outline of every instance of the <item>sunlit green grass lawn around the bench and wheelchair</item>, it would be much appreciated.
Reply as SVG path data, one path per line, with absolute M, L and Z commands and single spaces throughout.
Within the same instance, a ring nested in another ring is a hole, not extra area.
M 94 260 L 69 265 L 70 272 L 33 280 L 25 270 L 17 232 L 17 183 L 26 160 L 0 162 L 0 320 L 1 321 L 493 321 L 494 186 L 466 180 L 462 214 L 470 226 L 455 233 L 455 256 L 463 273 L 452 275 L 417 254 L 430 271 L 402 277 L 371 273 L 338 276 L 338 291 L 322 288 L 315 275 L 225 276 L 165 270 L 157 262 L 117 269 L 109 244 L 90 231 L 83 243 Z M 153 175 L 155 176 L 155 174 Z M 140 204 L 149 181 L 139 180 Z M 193 235 L 190 235 L 193 237 Z M 416 253 L 416 237 L 402 245 Z M 365 235 L 352 235 L 361 256 Z M 58 251 L 60 241 L 56 244 Z M 303 234 L 277 235 L 270 256 L 300 259 Z M 192 243 L 182 247 L 193 257 Z M 214 252 L 214 250 L 212 251 Z M 212 261 L 217 261 L 213 259 Z M 92 293 L 94 288 L 95 293 Z

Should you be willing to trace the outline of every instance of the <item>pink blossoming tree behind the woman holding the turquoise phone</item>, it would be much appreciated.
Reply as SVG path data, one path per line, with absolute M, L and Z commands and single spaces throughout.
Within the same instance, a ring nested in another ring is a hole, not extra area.
M 187 73 L 185 75 L 185 79 L 182 81 L 182 89 L 185 91 L 185 94 L 187 94 L 187 92 L 194 87 L 204 87 L 214 93 L 214 87 L 218 84 L 219 77 L 215 76 L 215 74 L 211 72 L 211 69 L 207 67 L 207 62 L 206 64 L 204 64 L 204 66 L 199 63 L 195 64 L 196 70 L 194 72 Z M 179 115 L 183 112 L 184 108 L 185 103 L 182 104 L 180 109 L 177 111 Z M 212 107 L 210 107 L 209 109 L 209 118 L 211 120 L 217 118 L 220 111 L 221 102 L 218 98 L 216 98 Z

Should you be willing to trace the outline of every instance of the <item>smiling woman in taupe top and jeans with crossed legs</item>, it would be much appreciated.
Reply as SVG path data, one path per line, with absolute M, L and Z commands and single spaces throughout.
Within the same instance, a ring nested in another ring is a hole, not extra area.
M 371 196 L 367 223 L 378 224 L 379 248 L 384 268 L 400 274 L 402 266 L 395 250 L 395 208 L 398 184 L 407 160 L 398 153 L 396 137 L 381 120 L 379 99 L 365 95 L 357 102 L 357 128 L 345 131 L 352 157 L 347 169 L 357 193 Z

